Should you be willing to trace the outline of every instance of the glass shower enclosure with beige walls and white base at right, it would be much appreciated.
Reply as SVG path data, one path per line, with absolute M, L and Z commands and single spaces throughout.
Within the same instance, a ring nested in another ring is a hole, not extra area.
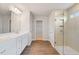
M 58 13 L 58 12 L 57 12 Z M 61 55 L 79 55 L 79 18 L 67 12 L 55 16 L 54 47 Z

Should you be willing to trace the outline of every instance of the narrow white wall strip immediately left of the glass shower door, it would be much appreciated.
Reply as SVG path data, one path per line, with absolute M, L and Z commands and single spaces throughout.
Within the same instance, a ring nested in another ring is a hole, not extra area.
M 49 15 L 49 41 L 54 46 L 54 30 L 55 30 L 55 12 L 52 11 Z

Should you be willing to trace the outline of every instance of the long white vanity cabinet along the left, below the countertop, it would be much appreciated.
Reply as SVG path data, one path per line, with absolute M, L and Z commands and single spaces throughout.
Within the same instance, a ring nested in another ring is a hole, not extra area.
M 29 35 L 22 34 L 4 39 L 0 43 L 0 55 L 20 55 L 28 45 Z

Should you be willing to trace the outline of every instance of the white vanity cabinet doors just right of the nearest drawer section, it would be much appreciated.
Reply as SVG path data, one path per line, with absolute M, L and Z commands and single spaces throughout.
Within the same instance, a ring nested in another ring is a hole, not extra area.
M 16 49 L 17 55 L 21 54 L 24 48 L 28 45 L 28 35 L 24 34 L 22 36 L 17 37 L 16 40 Z

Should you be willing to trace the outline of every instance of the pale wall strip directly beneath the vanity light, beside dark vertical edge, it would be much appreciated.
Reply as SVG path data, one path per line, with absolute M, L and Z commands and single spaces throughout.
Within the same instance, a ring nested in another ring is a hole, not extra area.
M 11 12 L 11 32 L 19 32 L 20 29 L 20 18 L 21 15 Z

